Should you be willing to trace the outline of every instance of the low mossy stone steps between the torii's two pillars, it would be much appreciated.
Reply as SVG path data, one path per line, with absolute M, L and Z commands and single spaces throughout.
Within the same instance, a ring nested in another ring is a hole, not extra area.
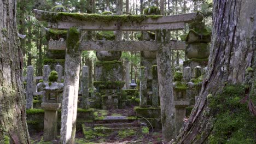
M 107 116 L 110 114 L 103 110 L 96 111 L 94 114 L 98 117 L 93 122 L 82 124 L 86 141 L 123 140 L 149 133 L 147 124 L 140 122 L 135 116 L 121 116 L 121 113 Z

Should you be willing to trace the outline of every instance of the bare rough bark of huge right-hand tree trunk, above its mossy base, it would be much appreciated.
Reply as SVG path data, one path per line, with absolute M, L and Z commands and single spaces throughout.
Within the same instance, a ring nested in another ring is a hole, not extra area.
M 209 109 L 207 95 L 217 97 L 225 83 L 244 83 L 247 67 L 255 68 L 255 5 L 255 0 L 214 1 L 208 70 L 199 100 L 177 137 L 178 143 L 206 143 L 214 126 L 213 113 L 203 115 Z

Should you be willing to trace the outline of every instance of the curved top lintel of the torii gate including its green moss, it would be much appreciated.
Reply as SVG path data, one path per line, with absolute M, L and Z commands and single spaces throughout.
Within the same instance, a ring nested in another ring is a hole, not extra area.
M 77 27 L 81 30 L 95 31 L 155 31 L 156 29 L 179 30 L 185 23 L 202 21 L 200 12 L 171 15 L 101 15 L 84 13 L 53 13 L 34 10 L 36 19 L 47 21 L 49 28 L 69 29 Z

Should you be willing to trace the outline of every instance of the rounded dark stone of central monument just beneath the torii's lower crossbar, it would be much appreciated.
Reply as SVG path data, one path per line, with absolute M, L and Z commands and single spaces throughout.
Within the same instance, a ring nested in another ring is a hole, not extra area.
M 96 56 L 100 61 L 119 60 L 122 55 L 121 51 L 97 51 Z

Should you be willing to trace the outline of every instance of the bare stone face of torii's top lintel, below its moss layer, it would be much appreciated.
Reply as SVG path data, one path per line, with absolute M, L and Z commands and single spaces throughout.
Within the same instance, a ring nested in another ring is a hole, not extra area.
M 57 13 L 51 13 L 48 11 L 34 10 L 36 19 L 39 21 L 48 21 L 49 27 L 68 29 L 70 27 L 77 27 L 83 30 L 121 30 L 121 31 L 153 31 L 155 29 L 182 29 L 184 28 L 184 22 L 192 22 L 194 20 L 201 21 L 202 19 L 198 18 L 201 13 L 190 13 L 190 14 L 181 14 L 181 15 L 171 15 L 171 16 L 162 16 L 158 19 L 148 18 L 142 22 L 133 22 L 127 21 L 121 23 L 120 20 L 109 21 L 108 25 L 106 22 L 101 21 L 104 19 L 98 20 L 87 20 L 81 21 L 81 19 L 75 19 L 75 17 L 61 15 Z M 45 16 L 47 15 L 47 16 Z M 61 17 L 59 20 L 52 21 L 54 16 L 59 15 Z M 81 14 L 83 15 L 83 14 Z M 103 15 L 106 16 L 106 15 Z M 124 16 L 123 16 L 124 17 Z M 129 15 L 127 15 L 129 17 Z M 53 23 L 51 23 L 53 22 Z M 159 25 L 161 23 L 161 25 Z

